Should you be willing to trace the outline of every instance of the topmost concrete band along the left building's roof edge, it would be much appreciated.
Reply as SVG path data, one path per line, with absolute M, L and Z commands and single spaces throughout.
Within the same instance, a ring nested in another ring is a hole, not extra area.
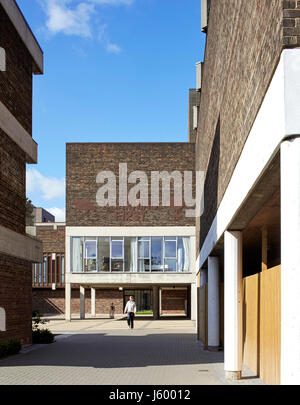
M 25 20 L 21 10 L 16 4 L 15 0 L 0 0 L 1 6 L 4 8 L 6 14 L 16 28 L 26 48 L 32 56 L 34 61 L 33 73 L 43 74 L 44 71 L 44 57 L 35 36 L 33 35 L 27 21 Z

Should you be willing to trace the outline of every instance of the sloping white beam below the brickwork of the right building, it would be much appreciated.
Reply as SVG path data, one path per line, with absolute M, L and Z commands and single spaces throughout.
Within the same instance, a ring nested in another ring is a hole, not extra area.
M 199 270 L 287 137 L 300 135 L 300 48 L 283 50 L 196 261 Z

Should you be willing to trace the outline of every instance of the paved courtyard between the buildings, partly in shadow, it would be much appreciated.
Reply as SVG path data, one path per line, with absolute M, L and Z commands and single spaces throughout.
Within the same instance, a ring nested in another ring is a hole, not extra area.
M 249 370 L 224 379 L 223 352 L 208 352 L 186 319 L 51 318 L 43 327 L 55 343 L 31 345 L 0 361 L 1 385 L 249 385 L 262 384 Z

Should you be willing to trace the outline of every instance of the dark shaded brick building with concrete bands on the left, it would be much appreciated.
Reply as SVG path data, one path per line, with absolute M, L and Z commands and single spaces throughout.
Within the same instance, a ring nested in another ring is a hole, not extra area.
M 37 162 L 32 139 L 32 75 L 43 53 L 13 0 L 0 0 L 0 342 L 31 342 L 31 263 L 41 243 L 26 235 L 26 163 Z

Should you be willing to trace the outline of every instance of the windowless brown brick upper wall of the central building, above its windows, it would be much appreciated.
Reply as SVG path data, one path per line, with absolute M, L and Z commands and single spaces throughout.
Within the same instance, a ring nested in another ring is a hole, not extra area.
M 101 184 L 96 183 L 96 176 L 100 171 L 112 171 L 118 189 L 119 163 L 127 163 L 128 175 L 142 170 L 150 183 L 151 171 L 193 171 L 194 157 L 194 144 L 190 143 L 67 144 L 67 226 L 193 226 L 194 219 L 186 218 L 184 209 L 174 205 L 99 207 L 96 193 Z M 149 205 L 150 201 L 149 185 Z

